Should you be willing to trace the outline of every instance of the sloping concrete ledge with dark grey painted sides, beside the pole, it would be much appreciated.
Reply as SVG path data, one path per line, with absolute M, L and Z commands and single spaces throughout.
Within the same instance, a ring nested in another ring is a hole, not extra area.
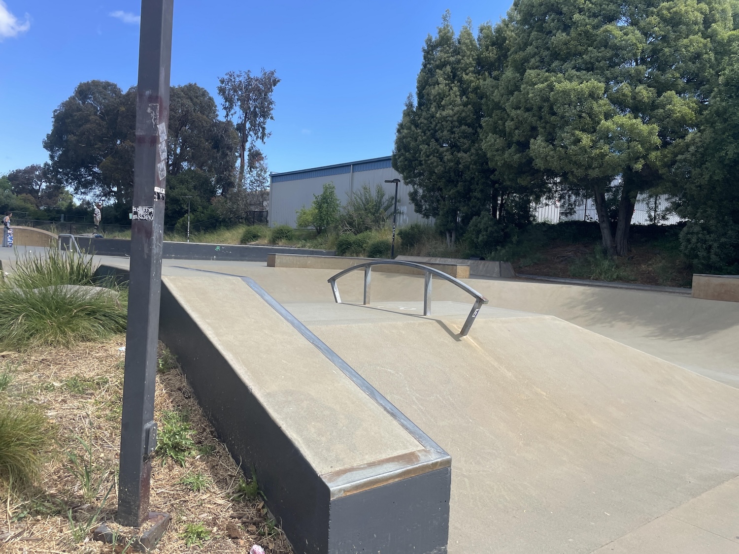
M 296 552 L 446 551 L 449 454 L 251 279 L 164 277 L 160 337 Z

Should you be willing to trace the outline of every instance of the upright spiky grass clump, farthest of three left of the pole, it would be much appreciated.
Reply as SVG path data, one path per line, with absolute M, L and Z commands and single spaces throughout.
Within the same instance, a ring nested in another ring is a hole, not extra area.
M 10 286 L 21 289 L 53 287 L 57 284 L 93 283 L 95 267 L 92 256 L 72 251 L 61 253 L 50 248 L 45 256 L 27 253 L 16 262 L 8 279 Z

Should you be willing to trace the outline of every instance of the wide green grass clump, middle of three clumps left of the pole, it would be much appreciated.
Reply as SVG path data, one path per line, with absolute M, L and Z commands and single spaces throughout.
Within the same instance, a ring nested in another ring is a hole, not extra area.
M 116 290 L 1 288 L 0 306 L 0 343 L 8 348 L 98 341 L 126 330 L 125 294 Z

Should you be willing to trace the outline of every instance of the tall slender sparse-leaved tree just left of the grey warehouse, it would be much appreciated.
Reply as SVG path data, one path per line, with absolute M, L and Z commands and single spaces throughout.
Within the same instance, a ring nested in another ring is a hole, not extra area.
M 219 78 L 218 94 L 223 100 L 222 108 L 226 119 L 236 117 L 236 131 L 239 133 L 239 177 L 237 183 L 244 184 L 247 167 L 253 169 L 251 161 L 256 159 L 256 141 L 264 143 L 270 133 L 267 122 L 273 120 L 274 100 L 272 92 L 279 83 L 274 70 L 261 75 L 251 75 L 251 71 L 229 71 Z

